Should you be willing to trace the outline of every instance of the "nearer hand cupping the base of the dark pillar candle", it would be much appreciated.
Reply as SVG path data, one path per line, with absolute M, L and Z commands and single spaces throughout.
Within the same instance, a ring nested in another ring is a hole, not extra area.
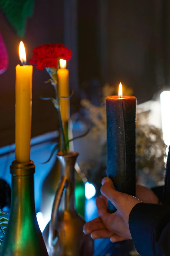
M 138 190 L 142 191 L 141 186 Z M 128 224 L 129 214 L 132 208 L 141 201 L 116 191 L 113 182 L 108 177 L 102 180 L 101 193 L 103 196 L 96 199 L 99 217 L 84 225 L 84 233 L 91 233 L 93 239 L 110 238 L 112 242 L 131 239 Z M 107 199 L 116 207 L 115 213 L 107 212 Z

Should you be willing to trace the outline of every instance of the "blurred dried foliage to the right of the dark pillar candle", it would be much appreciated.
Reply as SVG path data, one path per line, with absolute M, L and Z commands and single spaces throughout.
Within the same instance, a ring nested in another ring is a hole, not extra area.
M 146 122 L 142 117 L 144 115 Z M 164 143 L 162 130 L 147 124 L 147 115 L 148 113 L 137 115 L 136 172 L 139 182 L 154 186 L 161 184 L 164 179 L 167 145 Z

